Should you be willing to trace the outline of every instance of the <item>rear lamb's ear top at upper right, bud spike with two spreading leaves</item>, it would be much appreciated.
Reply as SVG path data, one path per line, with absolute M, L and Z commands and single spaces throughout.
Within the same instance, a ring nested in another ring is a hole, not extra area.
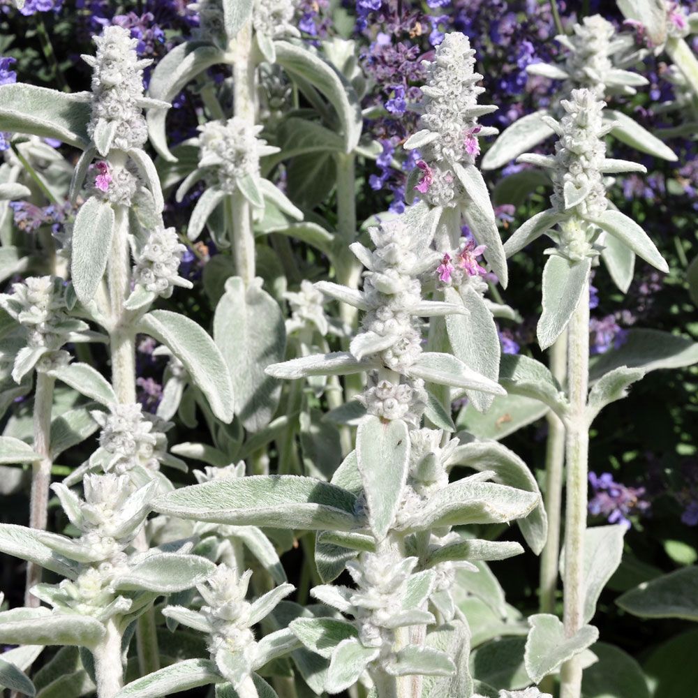
M 632 34 L 616 33 L 613 24 L 601 15 L 584 17 L 581 24 L 574 24 L 572 34 L 560 34 L 556 40 L 567 52 L 563 63 L 533 63 L 526 68 L 530 75 L 564 81 L 558 98 L 551 100 L 553 105 L 558 105 L 560 98 L 567 96 L 572 89 L 593 89 L 600 98 L 611 98 L 632 95 L 636 87 L 648 84 L 642 75 L 625 70 L 628 62 L 637 60 L 634 53 L 628 53 L 634 43 Z M 550 138 L 555 131 L 547 117 L 560 118 L 562 115 L 552 108 L 517 119 L 487 151 L 482 159 L 482 167 L 486 170 L 503 167 L 521 153 Z M 644 153 L 676 161 L 674 152 L 632 117 L 614 109 L 604 109 L 603 117 L 614 138 Z

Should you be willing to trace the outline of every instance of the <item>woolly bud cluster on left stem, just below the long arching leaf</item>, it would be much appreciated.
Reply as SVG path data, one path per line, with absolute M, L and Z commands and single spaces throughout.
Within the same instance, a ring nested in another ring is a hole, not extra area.
M 110 413 L 91 413 L 102 428 L 99 445 L 112 456 L 105 471 L 124 475 L 135 466 L 158 470 L 167 449 L 164 431 L 171 426 L 154 415 L 144 415 L 139 404 L 111 406 Z

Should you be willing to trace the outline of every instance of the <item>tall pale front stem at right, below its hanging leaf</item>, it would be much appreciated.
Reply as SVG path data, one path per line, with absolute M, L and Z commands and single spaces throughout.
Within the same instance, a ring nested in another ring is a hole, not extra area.
M 567 348 L 567 498 L 565 503 L 565 635 L 572 637 L 584 622 L 584 532 L 586 530 L 589 425 L 586 400 L 589 382 L 589 280 L 572 315 Z M 560 698 L 580 698 L 579 655 L 563 664 Z

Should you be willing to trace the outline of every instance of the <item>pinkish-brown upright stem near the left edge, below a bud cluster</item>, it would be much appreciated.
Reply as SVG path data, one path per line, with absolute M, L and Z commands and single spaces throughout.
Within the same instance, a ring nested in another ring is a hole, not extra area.
M 29 527 L 46 530 L 48 521 L 48 491 L 51 484 L 51 408 L 53 407 L 53 387 L 56 383 L 44 371 L 36 372 L 34 392 L 34 450 L 41 456 L 31 464 L 31 501 L 29 503 Z M 29 589 L 41 581 L 41 567 L 34 563 L 27 565 L 27 588 L 24 592 L 24 605 L 37 607 L 39 600 L 29 593 Z

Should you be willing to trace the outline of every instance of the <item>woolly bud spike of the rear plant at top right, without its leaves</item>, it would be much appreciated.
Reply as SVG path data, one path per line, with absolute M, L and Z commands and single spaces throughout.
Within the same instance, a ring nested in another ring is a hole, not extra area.
M 572 29 L 574 34 L 567 39 L 573 48 L 567 54 L 565 70 L 572 82 L 595 89 L 603 96 L 607 77 L 614 68 L 609 54 L 616 29 L 601 15 L 584 17 L 582 24 L 574 24 Z

